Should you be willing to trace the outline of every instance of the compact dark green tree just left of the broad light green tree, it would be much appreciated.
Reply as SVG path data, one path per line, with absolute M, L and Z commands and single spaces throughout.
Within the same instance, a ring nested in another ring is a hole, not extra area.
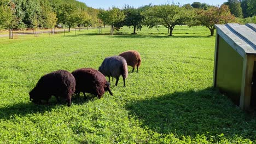
M 136 29 L 142 28 L 142 20 L 144 16 L 142 15 L 142 8 L 132 8 L 129 5 L 126 5 L 124 8 L 124 25 L 133 26 L 133 34 L 136 34 Z

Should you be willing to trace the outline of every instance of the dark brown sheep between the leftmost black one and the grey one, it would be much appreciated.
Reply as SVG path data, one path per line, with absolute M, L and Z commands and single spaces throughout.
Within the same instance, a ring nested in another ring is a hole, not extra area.
M 75 77 L 75 93 L 83 92 L 84 99 L 85 92 L 96 95 L 99 99 L 104 92 L 108 91 L 110 95 L 113 93 L 110 91 L 110 83 L 107 82 L 106 77 L 95 69 L 82 68 L 72 72 Z

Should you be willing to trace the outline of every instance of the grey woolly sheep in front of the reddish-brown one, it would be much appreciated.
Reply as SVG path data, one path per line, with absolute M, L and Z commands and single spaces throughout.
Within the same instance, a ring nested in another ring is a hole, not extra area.
M 104 59 L 98 70 L 104 76 L 108 76 L 108 81 L 110 81 L 110 76 L 115 77 L 115 79 L 117 79 L 115 86 L 118 85 L 119 76 L 122 75 L 125 87 L 125 79 L 128 76 L 127 63 L 125 58 L 121 56 L 107 57 Z

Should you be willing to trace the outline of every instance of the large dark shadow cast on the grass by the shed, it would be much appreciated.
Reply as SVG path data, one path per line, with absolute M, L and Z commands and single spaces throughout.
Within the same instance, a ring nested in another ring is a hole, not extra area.
M 161 134 L 196 136 L 210 132 L 256 139 L 256 116 L 241 111 L 213 88 L 135 101 L 126 109 L 143 127 Z

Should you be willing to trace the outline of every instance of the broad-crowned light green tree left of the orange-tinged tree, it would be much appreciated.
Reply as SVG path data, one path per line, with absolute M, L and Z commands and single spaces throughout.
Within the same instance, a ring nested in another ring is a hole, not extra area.
M 146 17 L 145 22 L 149 28 L 163 25 L 170 29 L 170 36 L 176 25 L 182 25 L 190 20 L 190 11 L 178 5 L 154 5 L 147 9 L 143 15 Z

